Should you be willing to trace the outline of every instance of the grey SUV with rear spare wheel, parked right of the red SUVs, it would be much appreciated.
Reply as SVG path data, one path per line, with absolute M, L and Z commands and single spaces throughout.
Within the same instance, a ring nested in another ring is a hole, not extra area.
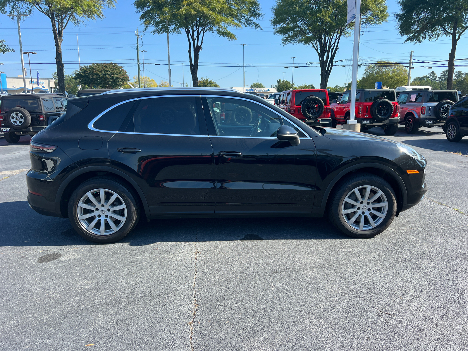
M 424 127 L 441 126 L 445 124 L 450 107 L 459 100 L 457 90 L 409 90 L 398 95 L 400 105 L 400 123 L 405 125 L 405 131 L 414 134 Z

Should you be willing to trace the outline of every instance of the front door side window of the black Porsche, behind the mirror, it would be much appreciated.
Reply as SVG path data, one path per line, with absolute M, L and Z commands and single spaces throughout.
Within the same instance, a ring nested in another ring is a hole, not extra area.
M 263 105 L 225 97 L 208 97 L 207 100 L 217 135 L 276 138 L 281 117 Z

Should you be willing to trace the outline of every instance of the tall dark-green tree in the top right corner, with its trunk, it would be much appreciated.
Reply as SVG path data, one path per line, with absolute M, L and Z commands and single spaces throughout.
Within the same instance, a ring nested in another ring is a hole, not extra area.
M 400 35 L 406 36 L 405 42 L 451 38 L 446 88 L 452 89 L 457 43 L 468 29 L 468 0 L 430 0 L 424 5 L 417 0 L 399 0 L 398 3 L 401 12 L 395 16 Z

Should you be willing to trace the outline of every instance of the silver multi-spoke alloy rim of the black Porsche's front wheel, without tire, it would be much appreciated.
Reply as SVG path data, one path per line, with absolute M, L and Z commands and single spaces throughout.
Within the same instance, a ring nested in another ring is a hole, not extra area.
M 371 185 L 361 185 L 351 190 L 343 200 L 341 213 L 348 224 L 356 230 L 377 227 L 388 211 L 388 201 L 382 190 Z

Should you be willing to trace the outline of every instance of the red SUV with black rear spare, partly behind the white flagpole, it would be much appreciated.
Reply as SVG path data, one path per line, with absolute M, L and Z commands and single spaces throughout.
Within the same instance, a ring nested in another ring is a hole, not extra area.
M 331 107 L 332 125 L 345 124 L 350 118 L 351 91 L 347 90 L 340 101 L 333 100 Z M 358 89 L 356 90 L 355 117 L 361 130 L 381 127 L 386 135 L 394 135 L 400 121 L 400 106 L 396 102 L 395 89 Z

